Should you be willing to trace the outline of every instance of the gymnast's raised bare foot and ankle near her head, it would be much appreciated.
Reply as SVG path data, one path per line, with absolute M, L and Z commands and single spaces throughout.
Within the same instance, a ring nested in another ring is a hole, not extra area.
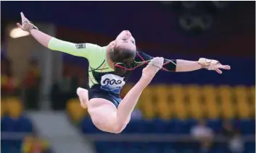
M 162 69 L 162 64 L 164 62 L 164 58 L 156 57 L 153 58 L 149 64 L 142 70 L 141 80 L 149 84 L 154 75 L 157 74 L 157 71 Z

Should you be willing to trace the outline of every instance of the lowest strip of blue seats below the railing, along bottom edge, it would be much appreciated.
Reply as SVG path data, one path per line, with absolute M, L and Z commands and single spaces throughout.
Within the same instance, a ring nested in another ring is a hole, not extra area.
M 201 153 L 197 143 L 96 142 L 97 153 Z M 231 153 L 228 145 L 213 144 L 210 153 Z M 246 143 L 243 153 L 255 153 L 255 143 Z

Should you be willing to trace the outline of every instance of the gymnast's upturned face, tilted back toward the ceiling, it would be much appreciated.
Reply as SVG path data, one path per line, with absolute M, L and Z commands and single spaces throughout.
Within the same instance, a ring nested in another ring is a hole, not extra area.
M 136 51 L 135 39 L 128 30 L 123 30 L 115 39 L 115 47 Z

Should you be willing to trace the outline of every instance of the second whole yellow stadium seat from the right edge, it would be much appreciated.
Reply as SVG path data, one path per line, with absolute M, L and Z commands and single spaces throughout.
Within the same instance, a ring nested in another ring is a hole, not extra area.
M 223 118 L 234 118 L 234 102 L 232 100 L 232 89 L 229 86 L 218 87 L 218 94 L 220 95 L 220 108 Z

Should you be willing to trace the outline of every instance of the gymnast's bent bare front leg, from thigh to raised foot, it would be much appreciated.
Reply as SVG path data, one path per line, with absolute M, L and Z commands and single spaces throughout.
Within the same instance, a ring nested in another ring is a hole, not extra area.
M 139 100 L 141 92 L 151 82 L 162 67 L 163 58 L 154 58 L 143 70 L 139 82 L 123 98 L 118 108 L 108 100 L 94 98 L 88 101 L 88 113 L 94 125 L 102 131 L 118 134 L 127 126 L 131 113 Z

